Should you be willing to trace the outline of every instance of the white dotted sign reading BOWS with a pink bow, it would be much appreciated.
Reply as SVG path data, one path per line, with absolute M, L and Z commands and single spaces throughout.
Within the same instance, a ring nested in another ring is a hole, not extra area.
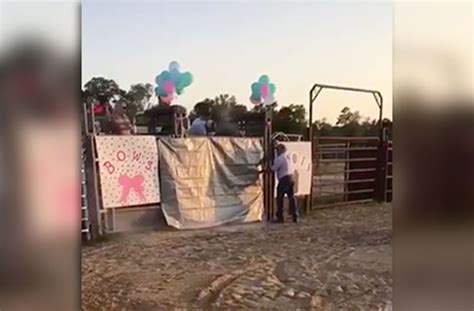
M 153 136 L 97 136 L 103 206 L 160 201 L 158 147 Z

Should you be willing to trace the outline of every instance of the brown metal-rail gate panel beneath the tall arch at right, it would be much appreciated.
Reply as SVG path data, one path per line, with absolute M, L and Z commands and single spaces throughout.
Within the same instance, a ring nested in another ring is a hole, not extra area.
M 392 151 L 392 142 L 380 143 L 378 137 L 315 138 L 313 207 L 368 202 L 380 199 L 380 193 L 391 201 Z

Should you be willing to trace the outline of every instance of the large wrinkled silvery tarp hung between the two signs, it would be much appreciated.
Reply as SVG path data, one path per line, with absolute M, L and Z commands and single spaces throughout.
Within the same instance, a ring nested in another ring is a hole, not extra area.
M 261 221 L 263 146 L 239 137 L 161 138 L 161 206 L 178 229 Z

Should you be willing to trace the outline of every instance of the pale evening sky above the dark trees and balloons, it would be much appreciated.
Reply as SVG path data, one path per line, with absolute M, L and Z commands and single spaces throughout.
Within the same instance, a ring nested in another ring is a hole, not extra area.
M 41 24 L 55 43 L 74 48 L 80 25 L 82 84 L 94 76 L 114 79 L 123 89 L 154 84 L 178 61 L 194 77 L 178 99 L 189 109 L 222 93 L 250 108 L 250 85 L 267 74 L 279 105 L 308 109 L 309 89 L 325 83 L 377 89 L 384 116 L 392 114 L 390 3 L 86 0 L 81 24 L 71 22 L 77 20 L 77 2 L 34 5 L 7 7 L 8 14 L 0 15 L 3 37 L 21 30 L 19 24 Z M 313 117 L 334 121 L 344 106 L 378 115 L 370 95 L 323 91 Z

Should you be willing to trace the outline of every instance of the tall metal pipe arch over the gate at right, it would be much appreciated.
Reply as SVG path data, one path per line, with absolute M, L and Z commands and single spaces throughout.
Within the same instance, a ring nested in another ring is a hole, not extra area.
M 382 146 L 383 144 L 383 124 L 382 124 L 383 97 L 380 91 L 355 88 L 355 87 L 319 84 L 319 83 L 314 84 L 311 90 L 309 91 L 309 135 L 308 137 L 309 137 L 309 141 L 311 142 L 311 146 L 313 146 L 313 143 L 314 143 L 313 105 L 323 89 L 372 94 L 372 96 L 375 99 L 375 102 L 377 103 L 377 106 L 379 107 L 379 144 Z M 314 174 L 314 164 L 315 164 L 314 149 L 313 148 L 311 149 L 312 149 L 311 162 L 312 162 L 313 174 Z M 307 209 L 311 209 L 312 200 L 313 200 L 313 178 L 311 178 L 311 193 L 310 193 L 310 198 L 308 200 L 309 202 L 307 203 L 307 206 L 306 206 Z

